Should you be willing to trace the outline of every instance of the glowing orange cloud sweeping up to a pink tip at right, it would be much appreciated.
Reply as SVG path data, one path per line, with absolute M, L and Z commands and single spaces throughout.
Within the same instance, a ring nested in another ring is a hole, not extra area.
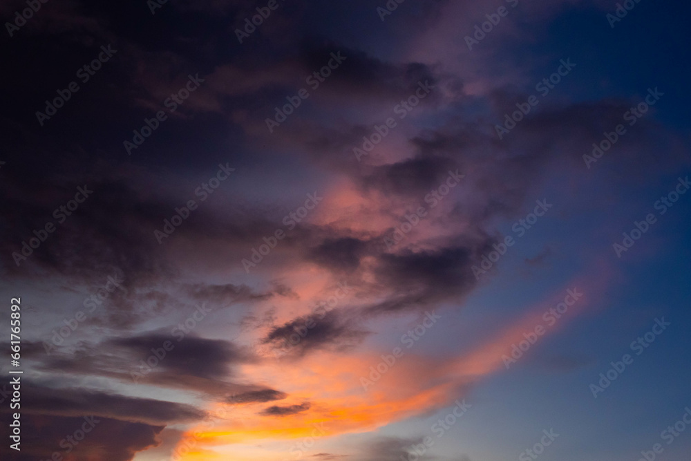
M 501 370 L 504 367 L 502 357 L 510 354 L 512 344 L 525 339 L 524 333 L 534 331 L 536 326 L 544 326 L 544 336 L 551 335 L 587 312 L 591 300 L 600 297 L 605 279 L 600 277 L 594 283 L 585 279 L 572 281 L 550 296 L 549 301 L 529 308 L 511 326 L 460 357 L 437 359 L 408 353 L 397 359 L 380 377 L 373 375 L 372 385 L 367 390 L 361 385 L 361 377 L 372 378 L 368 376 L 372 370 L 370 367 L 376 368 L 383 361 L 380 354 L 334 356 L 322 351 L 308 355 L 298 363 L 267 361 L 246 365 L 240 371 L 249 380 L 280 388 L 289 395 L 287 399 L 271 404 L 292 406 L 309 402 L 310 407 L 285 416 L 264 416 L 259 413 L 267 404 L 234 406 L 228 409 L 231 418 L 200 434 L 200 444 L 209 447 L 257 440 L 309 438 L 315 437 L 316 428 L 322 428 L 319 437 L 334 437 L 374 431 L 443 408 L 459 398 L 458 394 L 469 385 Z M 567 297 L 567 289 L 572 288 L 582 291 L 583 296 L 576 300 L 572 295 Z M 547 326 L 545 312 L 556 308 L 565 298 L 572 305 L 560 319 Z

